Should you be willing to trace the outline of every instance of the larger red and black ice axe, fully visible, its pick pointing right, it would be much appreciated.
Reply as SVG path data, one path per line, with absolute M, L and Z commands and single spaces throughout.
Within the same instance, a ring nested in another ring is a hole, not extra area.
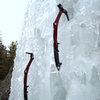
M 59 12 L 58 12 L 58 15 L 57 15 L 54 23 L 53 23 L 53 28 L 54 28 L 54 30 L 53 30 L 53 46 L 54 46 L 55 64 L 56 64 L 57 70 L 59 71 L 62 63 L 59 61 L 59 50 L 58 50 L 59 43 L 57 41 L 58 23 L 59 23 L 59 20 L 60 20 L 62 13 L 64 13 L 66 15 L 68 21 L 69 21 L 69 16 L 68 16 L 67 10 L 65 10 L 61 4 L 59 4 L 57 6 L 59 8 Z

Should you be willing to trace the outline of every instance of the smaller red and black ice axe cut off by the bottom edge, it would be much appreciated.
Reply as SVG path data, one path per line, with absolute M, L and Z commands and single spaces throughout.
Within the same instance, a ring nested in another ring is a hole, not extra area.
M 26 68 L 24 70 L 24 100 L 28 100 L 28 96 L 27 96 L 28 91 L 27 91 L 27 88 L 29 86 L 27 86 L 27 76 L 28 76 L 28 71 L 29 71 L 30 65 L 31 65 L 31 63 L 32 63 L 32 61 L 34 59 L 33 53 L 26 52 L 26 54 L 30 55 L 30 60 L 29 60 L 27 66 L 26 66 Z

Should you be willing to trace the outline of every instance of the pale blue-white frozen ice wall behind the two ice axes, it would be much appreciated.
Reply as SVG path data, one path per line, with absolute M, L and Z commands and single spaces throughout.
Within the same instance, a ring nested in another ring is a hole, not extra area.
M 62 67 L 53 57 L 53 22 L 57 4 L 62 15 L 58 41 Z M 29 100 L 100 100 L 100 0 L 30 0 L 11 82 L 9 100 L 23 100 L 24 69 L 34 53 L 28 74 Z

